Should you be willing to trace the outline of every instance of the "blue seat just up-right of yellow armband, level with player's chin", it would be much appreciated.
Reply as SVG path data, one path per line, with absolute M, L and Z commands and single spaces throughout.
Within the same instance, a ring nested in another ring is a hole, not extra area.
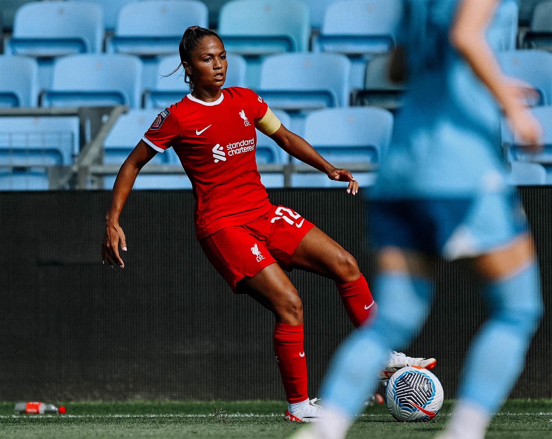
M 258 93 L 277 109 L 348 107 L 350 70 L 351 61 L 339 54 L 269 56 L 262 64 Z

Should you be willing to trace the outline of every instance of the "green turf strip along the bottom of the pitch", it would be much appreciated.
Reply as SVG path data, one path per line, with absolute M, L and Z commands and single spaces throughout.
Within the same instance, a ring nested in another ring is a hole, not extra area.
M 13 403 L 0 403 L 2 439 L 99 438 L 285 438 L 299 425 L 283 421 L 280 401 L 128 401 L 63 403 L 67 416 L 13 416 Z M 399 424 L 385 406 L 370 407 L 348 438 L 431 439 L 444 425 L 452 403 L 446 401 L 432 422 Z M 224 411 L 224 412 L 223 412 Z M 510 400 L 493 418 L 488 439 L 552 438 L 552 400 Z M 236 414 L 274 417 L 235 417 Z M 85 415 L 86 417 L 72 417 Z M 121 416 L 127 415 L 127 416 Z M 148 416 L 150 415 L 150 416 Z M 162 416 L 166 415 L 166 416 Z M 172 416 L 171 416 L 172 415 Z M 182 415 L 207 415 L 184 417 Z

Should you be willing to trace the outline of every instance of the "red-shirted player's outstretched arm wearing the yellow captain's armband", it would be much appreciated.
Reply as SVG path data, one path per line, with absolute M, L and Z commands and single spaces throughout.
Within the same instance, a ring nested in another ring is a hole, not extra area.
M 331 180 L 348 182 L 347 193 L 357 194 L 358 182 L 351 172 L 328 163 L 309 142 L 285 128 L 270 108 L 267 109 L 264 117 L 256 122 L 256 126 L 261 133 L 269 136 L 289 155 L 325 173 Z

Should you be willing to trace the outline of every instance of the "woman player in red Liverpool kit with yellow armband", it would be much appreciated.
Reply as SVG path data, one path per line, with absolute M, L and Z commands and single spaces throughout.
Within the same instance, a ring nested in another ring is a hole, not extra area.
M 333 279 L 355 326 L 367 320 L 376 305 L 348 252 L 293 209 L 270 204 L 257 171 L 255 128 L 329 178 L 348 182 L 347 193 L 356 194 L 358 183 L 351 172 L 330 165 L 290 133 L 250 89 L 221 89 L 226 51 L 213 31 L 188 28 L 179 52 L 191 93 L 157 116 L 121 166 L 106 217 L 103 260 L 124 268 L 118 247 L 126 251 L 126 240 L 119 215 L 140 169 L 172 146 L 192 182 L 195 230 L 209 262 L 233 292 L 250 295 L 274 313 L 274 352 L 289 403 L 285 419 L 311 421 L 321 408 L 307 395 L 301 299 L 284 269 L 300 268 Z M 435 364 L 433 358 L 396 352 L 388 359 L 391 370 Z

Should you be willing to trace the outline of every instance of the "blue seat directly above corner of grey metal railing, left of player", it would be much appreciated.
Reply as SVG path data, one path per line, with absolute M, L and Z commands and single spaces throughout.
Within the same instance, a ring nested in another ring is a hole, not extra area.
M 43 107 L 98 107 L 125 104 L 140 108 L 140 59 L 132 55 L 66 56 L 56 61 L 54 83 Z

